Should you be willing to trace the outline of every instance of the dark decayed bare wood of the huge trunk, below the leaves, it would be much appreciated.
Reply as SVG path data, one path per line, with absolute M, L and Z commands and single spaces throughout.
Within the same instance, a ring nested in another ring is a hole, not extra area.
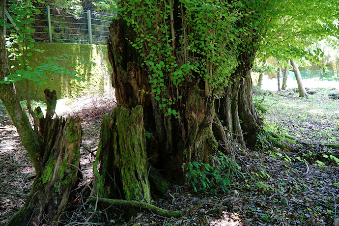
M 134 40 L 133 30 L 121 19 L 113 21 L 110 30 L 108 52 L 117 104 L 129 110 L 142 105 L 145 130 L 154 137 L 149 144 L 152 148 L 147 150 L 149 162 L 155 168 L 167 169 L 164 173 L 167 179 L 183 180 L 183 170 L 191 161 L 208 162 L 217 151 L 212 131 L 214 101 L 203 97 L 203 91 L 193 83 L 187 83 L 178 91 L 185 95 L 181 99 L 173 97 L 179 117 L 167 115 L 151 93 L 147 69 L 134 63 L 141 57 L 127 41 Z

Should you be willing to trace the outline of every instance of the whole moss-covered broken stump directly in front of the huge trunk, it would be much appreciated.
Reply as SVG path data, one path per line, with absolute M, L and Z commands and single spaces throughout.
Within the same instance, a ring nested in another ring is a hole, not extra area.
M 116 107 L 104 116 L 93 166 L 93 196 L 150 202 L 144 133 L 141 105 L 132 111 Z

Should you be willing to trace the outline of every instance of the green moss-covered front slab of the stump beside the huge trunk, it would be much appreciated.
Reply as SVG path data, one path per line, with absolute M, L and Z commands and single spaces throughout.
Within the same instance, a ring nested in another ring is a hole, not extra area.
M 132 109 L 116 109 L 119 142 L 121 179 L 125 198 L 144 199 L 150 202 L 150 187 L 147 179 L 147 155 L 143 111 L 139 105 Z

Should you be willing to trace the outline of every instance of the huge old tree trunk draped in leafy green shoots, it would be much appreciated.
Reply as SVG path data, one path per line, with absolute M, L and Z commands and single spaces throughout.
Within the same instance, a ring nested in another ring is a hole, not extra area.
M 142 106 L 148 163 L 169 181 L 183 181 L 192 161 L 213 165 L 227 139 L 255 145 L 262 121 L 250 69 L 261 4 L 117 1 L 108 39 L 117 104 Z

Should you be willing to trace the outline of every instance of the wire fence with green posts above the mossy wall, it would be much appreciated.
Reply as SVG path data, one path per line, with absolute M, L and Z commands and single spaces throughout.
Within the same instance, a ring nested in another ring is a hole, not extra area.
M 106 44 L 113 15 L 87 11 L 71 11 L 37 7 L 40 13 L 33 16 L 32 38 L 37 42 Z M 11 12 L 7 13 L 10 20 Z M 9 32 L 9 31 L 7 31 Z

